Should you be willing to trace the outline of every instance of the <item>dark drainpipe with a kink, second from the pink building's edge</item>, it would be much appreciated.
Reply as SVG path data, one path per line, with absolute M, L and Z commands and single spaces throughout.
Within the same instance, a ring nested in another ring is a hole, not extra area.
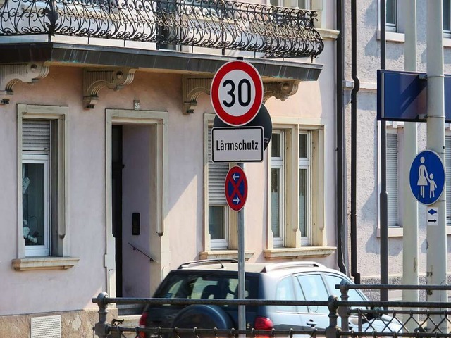
M 351 275 L 360 284 L 357 273 L 357 0 L 351 1 L 351 75 L 354 88 L 351 92 Z

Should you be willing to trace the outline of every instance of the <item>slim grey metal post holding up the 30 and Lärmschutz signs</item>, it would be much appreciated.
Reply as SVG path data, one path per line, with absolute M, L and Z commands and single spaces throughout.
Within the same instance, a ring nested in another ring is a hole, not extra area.
M 243 168 L 243 163 L 238 163 Z M 238 298 L 246 298 L 245 279 L 245 211 L 244 207 L 238 211 Z M 238 306 L 238 330 L 246 330 L 246 306 Z M 245 338 L 240 334 L 240 338 Z

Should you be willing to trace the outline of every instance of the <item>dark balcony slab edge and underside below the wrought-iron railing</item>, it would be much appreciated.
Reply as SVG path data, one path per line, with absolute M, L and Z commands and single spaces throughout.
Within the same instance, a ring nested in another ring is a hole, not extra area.
M 60 44 L 53 42 L 0 44 L 0 64 L 47 63 L 71 66 L 139 68 L 158 73 L 212 76 L 232 56 L 149 51 L 111 46 Z M 259 71 L 264 82 L 316 81 L 323 65 L 271 59 L 245 58 Z

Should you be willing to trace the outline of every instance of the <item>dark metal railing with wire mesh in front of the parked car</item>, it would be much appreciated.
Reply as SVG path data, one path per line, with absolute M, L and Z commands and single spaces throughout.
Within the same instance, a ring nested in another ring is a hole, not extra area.
M 451 286 L 418 286 L 418 285 L 354 285 L 340 284 L 336 286 L 338 296 L 330 296 L 326 301 L 280 301 L 280 300 L 226 300 L 226 299 L 134 299 L 109 298 L 101 293 L 92 299 L 99 306 L 99 322 L 94 332 L 99 338 L 119 337 L 173 337 L 173 338 L 204 338 L 204 337 L 451 337 L 451 318 L 447 302 L 430 301 L 354 301 L 350 300 L 350 290 L 423 290 L 426 292 L 447 292 Z M 107 306 L 116 304 L 172 304 L 188 306 L 206 304 L 216 306 L 327 306 L 328 327 L 309 330 L 296 330 L 288 327 L 286 330 L 237 330 L 230 327 L 227 330 L 199 327 L 127 327 L 121 323 L 108 323 Z M 130 335 L 131 334 L 131 335 Z

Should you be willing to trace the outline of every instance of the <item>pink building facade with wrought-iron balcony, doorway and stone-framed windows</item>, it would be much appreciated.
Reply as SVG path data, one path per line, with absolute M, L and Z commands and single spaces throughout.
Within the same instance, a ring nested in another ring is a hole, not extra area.
M 335 1 L 0 13 L 1 337 L 90 337 L 99 292 L 148 297 L 181 263 L 237 258 L 233 163 L 209 145 L 211 79 L 237 57 L 272 120 L 264 161 L 244 165 L 246 258 L 336 266 Z

